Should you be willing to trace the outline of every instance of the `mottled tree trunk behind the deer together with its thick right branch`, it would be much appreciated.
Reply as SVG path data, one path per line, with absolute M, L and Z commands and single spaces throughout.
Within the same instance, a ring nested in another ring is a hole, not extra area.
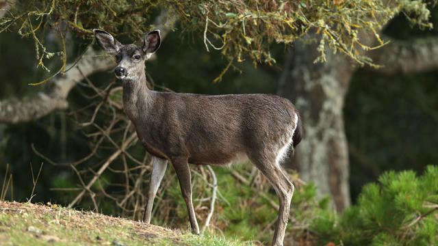
M 372 41 L 370 41 L 372 42 Z M 344 55 L 327 53 L 324 64 L 314 64 L 317 44 L 296 42 L 281 74 L 278 94 L 289 98 L 301 112 L 304 137 L 287 165 L 303 180 L 318 186 L 317 197 L 331 194 L 337 211 L 350 204 L 348 144 L 343 107 L 355 68 Z M 395 40 L 368 53 L 375 64 L 361 69 L 382 74 L 410 74 L 438 68 L 438 38 Z

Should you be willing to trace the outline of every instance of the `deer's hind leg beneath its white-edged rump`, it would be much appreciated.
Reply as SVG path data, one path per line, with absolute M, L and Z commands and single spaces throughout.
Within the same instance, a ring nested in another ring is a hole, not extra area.
M 252 161 L 261 173 L 269 180 L 270 184 L 275 189 L 276 195 L 279 197 L 279 217 L 276 221 L 272 245 L 280 246 L 283 245 L 283 239 L 285 237 L 287 220 L 289 219 L 290 202 L 292 200 L 292 195 L 294 195 L 294 184 L 289 181 L 281 167 L 279 167 L 274 160 L 275 159 L 268 161 L 263 160 L 262 158 L 250 157 L 250 161 Z

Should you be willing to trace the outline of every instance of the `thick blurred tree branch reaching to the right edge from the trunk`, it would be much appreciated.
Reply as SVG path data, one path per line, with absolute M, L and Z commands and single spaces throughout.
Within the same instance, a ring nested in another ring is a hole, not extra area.
M 372 69 L 383 74 L 409 74 L 438 68 L 438 37 L 396 40 L 369 53 L 375 64 L 384 67 Z

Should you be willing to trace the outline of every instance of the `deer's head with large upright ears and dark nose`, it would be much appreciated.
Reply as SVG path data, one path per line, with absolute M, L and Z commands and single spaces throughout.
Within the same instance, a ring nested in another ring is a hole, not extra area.
M 161 44 L 159 30 L 149 32 L 143 40 L 143 46 L 120 44 L 110 33 L 93 29 L 97 44 L 103 51 L 114 55 L 117 66 L 114 70 L 118 79 L 137 80 L 144 73 L 144 61 L 149 59 Z

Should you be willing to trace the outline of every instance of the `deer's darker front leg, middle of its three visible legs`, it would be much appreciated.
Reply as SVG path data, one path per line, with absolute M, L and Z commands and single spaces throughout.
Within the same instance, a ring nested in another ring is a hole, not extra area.
M 192 203 L 192 180 L 190 180 L 190 169 L 187 159 L 172 159 L 172 165 L 177 172 L 179 185 L 181 186 L 181 193 L 183 195 L 185 204 L 190 219 L 190 227 L 193 234 L 199 234 L 198 221 L 196 221 L 196 215 L 194 214 L 194 208 Z

